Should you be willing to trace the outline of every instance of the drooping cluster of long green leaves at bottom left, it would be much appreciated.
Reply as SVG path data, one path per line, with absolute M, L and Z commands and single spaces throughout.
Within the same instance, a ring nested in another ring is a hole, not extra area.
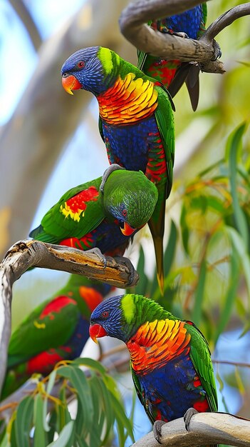
M 80 366 L 84 366 L 85 371 Z M 58 397 L 53 396 L 56 379 L 61 379 Z M 71 417 L 68 409 L 69 391 L 78 403 L 75 418 Z M 120 400 L 115 381 L 97 361 L 77 358 L 59 363 L 48 378 L 38 381 L 31 396 L 26 396 L 19 403 L 0 446 L 107 446 L 116 425 L 119 446 L 122 447 L 128 436 L 133 441 L 133 433 L 131 421 Z M 54 441 L 55 433 L 58 438 Z

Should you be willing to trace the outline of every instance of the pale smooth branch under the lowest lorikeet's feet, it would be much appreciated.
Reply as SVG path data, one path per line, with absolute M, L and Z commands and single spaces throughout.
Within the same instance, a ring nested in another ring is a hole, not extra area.
M 162 446 L 187 447 L 222 443 L 230 446 L 249 446 L 250 421 L 227 413 L 197 413 L 192 416 L 189 431 L 179 418 L 162 426 Z M 132 447 L 159 447 L 152 432 Z

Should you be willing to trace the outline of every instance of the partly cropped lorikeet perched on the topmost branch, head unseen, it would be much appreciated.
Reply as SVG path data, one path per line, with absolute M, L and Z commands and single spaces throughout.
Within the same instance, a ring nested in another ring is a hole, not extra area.
M 199 39 L 205 31 L 207 21 L 207 4 L 202 3 L 188 11 L 182 12 L 166 19 L 149 21 L 148 25 L 157 31 L 170 34 L 187 35 L 189 39 Z M 175 96 L 184 83 L 187 84 L 192 109 L 197 109 L 199 101 L 199 67 L 178 60 L 168 61 L 160 57 L 151 56 L 144 51 L 137 51 L 138 68 L 147 76 L 162 82 Z

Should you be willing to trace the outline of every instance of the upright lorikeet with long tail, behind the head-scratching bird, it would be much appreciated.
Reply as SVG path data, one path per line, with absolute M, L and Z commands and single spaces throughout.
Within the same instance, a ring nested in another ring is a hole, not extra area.
M 172 99 L 162 84 L 102 46 L 76 51 L 64 62 L 61 74 L 68 93 L 84 89 L 98 100 L 99 130 L 110 163 L 140 170 L 157 186 L 149 226 L 163 290 L 165 201 L 172 188 L 175 154 Z

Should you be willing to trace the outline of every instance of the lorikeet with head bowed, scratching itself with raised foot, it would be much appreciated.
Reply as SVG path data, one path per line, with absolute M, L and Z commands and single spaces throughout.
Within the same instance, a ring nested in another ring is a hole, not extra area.
M 132 235 L 150 219 L 157 196 L 157 188 L 142 172 L 111 165 L 103 177 L 63 194 L 29 236 L 123 256 Z

